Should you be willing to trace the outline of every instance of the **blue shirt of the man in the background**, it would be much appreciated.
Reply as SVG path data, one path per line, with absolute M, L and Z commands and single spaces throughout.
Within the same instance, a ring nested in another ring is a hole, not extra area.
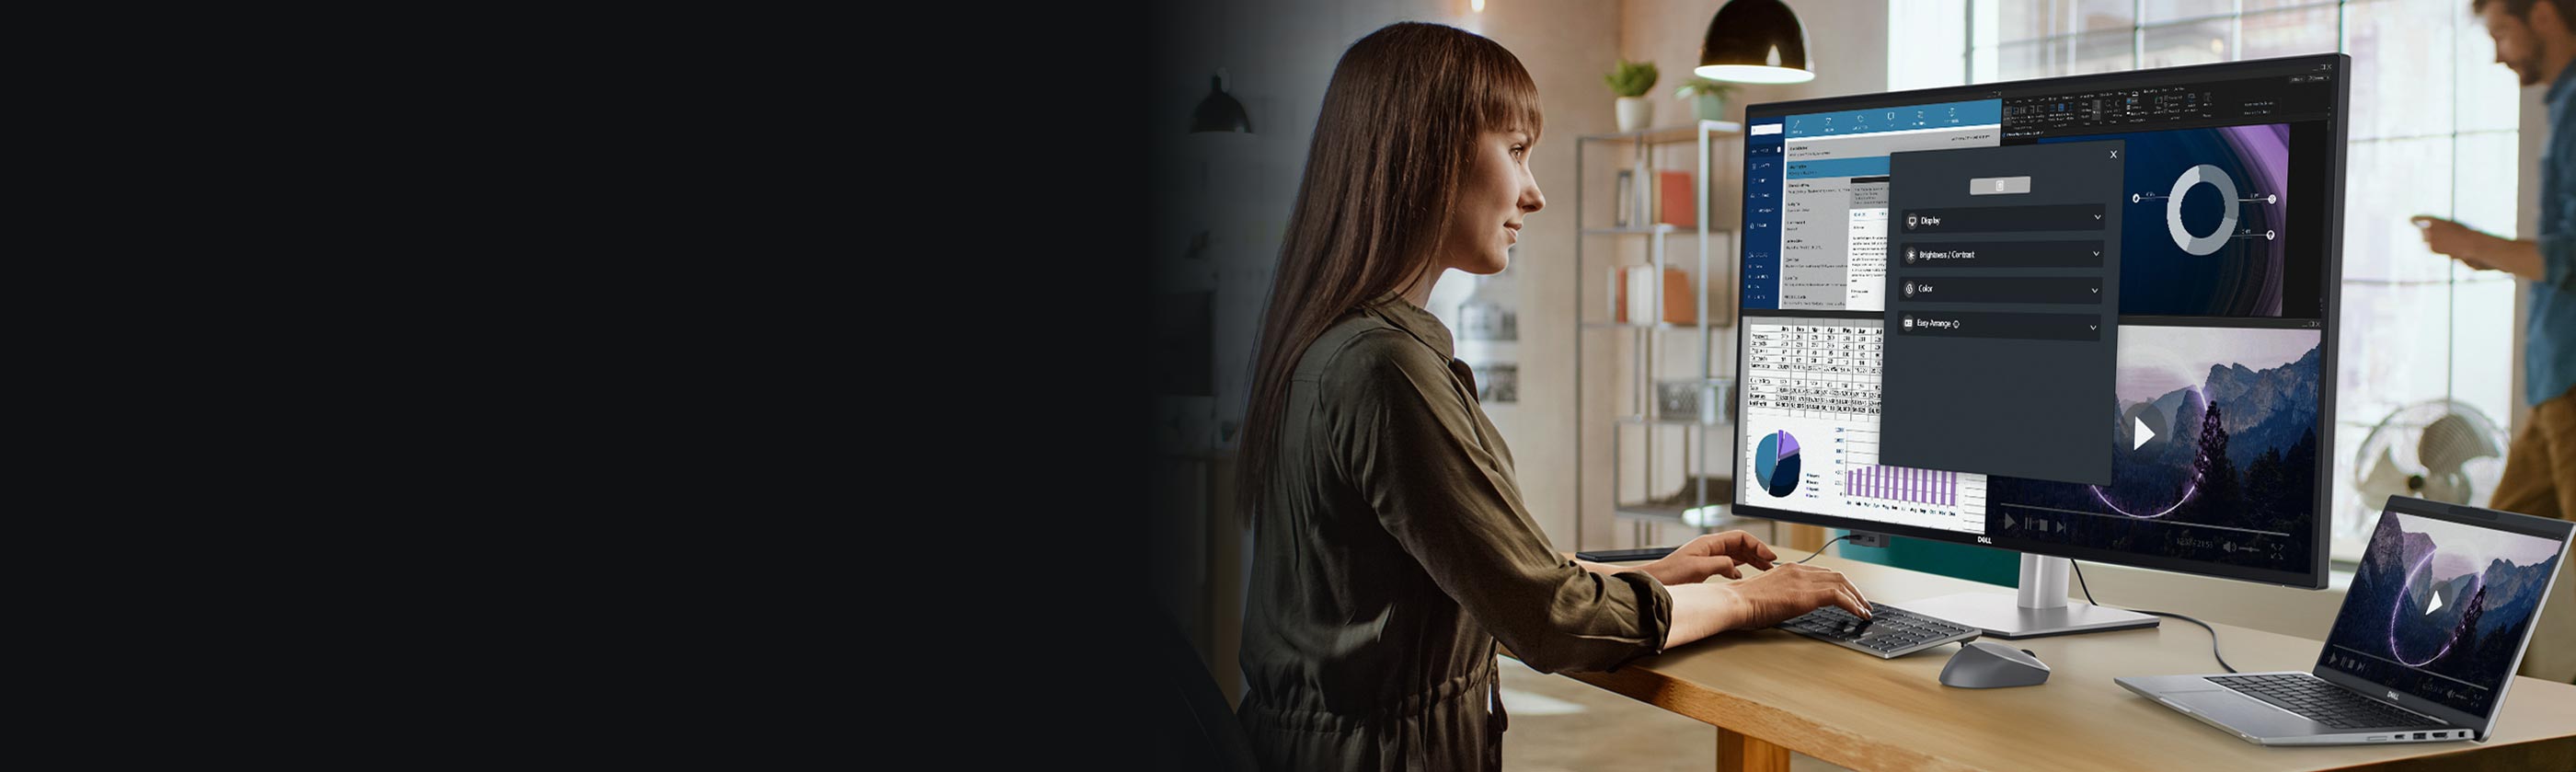
M 2522 329 L 2522 396 L 2550 401 L 2576 386 L 2576 62 L 2550 82 L 2550 144 L 2540 157 L 2540 280 Z

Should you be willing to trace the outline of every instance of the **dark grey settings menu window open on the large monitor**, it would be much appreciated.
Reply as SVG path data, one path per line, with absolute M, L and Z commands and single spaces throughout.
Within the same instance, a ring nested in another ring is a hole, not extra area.
M 2120 149 L 1888 157 L 1886 463 L 2112 484 Z

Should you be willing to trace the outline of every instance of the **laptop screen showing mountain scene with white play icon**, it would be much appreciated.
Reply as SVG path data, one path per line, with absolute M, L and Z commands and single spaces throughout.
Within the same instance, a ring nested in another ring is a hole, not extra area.
M 2563 551 L 2563 538 L 2380 512 L 2318 666 L 2486 718 Z

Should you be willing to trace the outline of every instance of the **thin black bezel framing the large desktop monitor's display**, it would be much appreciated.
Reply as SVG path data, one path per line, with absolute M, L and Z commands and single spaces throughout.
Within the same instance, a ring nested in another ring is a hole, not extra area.
M 1978 85 L 1953 85 L 1953 87 L 1896 90 L 1896 93 L 1873 93 L 1873 95 L 1839 95 L 1839 98 L 1754 103 L 1754 106 L 1744 108 L 1744 126 L 1749 131 L 1749 126 L 1754 126 L 1757 121 L 1785 118 L 1785 116 L 1795 116 L 1795 113 L 1855 111 L 1855 108 L 1893 108 L 1893 106 L 1901 106 L 1901 103 L 1986 100 L 1986 98 L 2004 98 L 2004 93 L 2017 93 L 2020 95 L 2022 90 L 2102 90 L 2102 87 L 2123 87 L 2123 85 L 2141 85 L 2143 87 L 2143 85 L 2174 85 L 2174 82 L 2195 82 L 2195 80 L 2241 80 L 2241 77 L 2262 77 L 2262 75 L 2269 75 L 2269 72 L 2280 72 L 2280 75 L 2331 72 L 2334 75 L 2334 113 L 2329 118 L 2329 131 L 2334 134 L 2334 142 L 2331 142 L 2334 180 L 2342 183 L 2344 180 L 2344 160 L 2352 154 L 2349 147 L 2347 147 L 2347 142 L 2349 142 L 2349 124 L 2352 124 L 2349 121 L 2349 116 L 2352 116 L 2352 57 L 2347 57 L 2347 54 L 2308 54 L 2308 57 L 2277 57 L 2277 59 L 2251 59 L 2251 62 L 2221 62 L 2221 64 L 2192 64 L 2192 67 L 2159 67 L 2159 69 L 2130 69 L 2130 72 L 2102 72 L 2102 75 L 2074 75 L 2074 77 L 2040 77 L 2040 80 L 2007 80 L 2007 82 L 1978 82 Z M 1747 144 L 1747 149 L 1749 149 L 1749 144 Z M 2326 270 L 2324 270 L 2326 273 L 2326 288 L 2324 288 L 2324 304 L 2326 306 L 2324 306 L 2324 319 L 2321 319 L 2324 324 L 2318 324 L 2318 327 L 2324 327 L 2321 329 L 2324 340 L 2318 342 L 2324 350 L 2321 350 L 2321 360 L 2318 360 L 2318 376 L 2321 378 L 2318 378 L 2318 399 L 2316 399 L 2316 448 L 2318 448 L 2318 453 L 2316 453 L 2316 463 L 2318 463 L 2316 502 L 2318 502 L 2318 507 L 2316 507 L 2313 520 L 2311 520 L 2311 538 L 2308 538 L 2311 556 L 2308 556 L 2308 569 L 2306 571 L 2277 571 L 2277 569 L 2254 569 L 2254 566 L 2223 566 L 2223 564 L 2208 564 L 2208 561 L 2184 561 L 2184 558 L 2166 558 L 2166 556 L 2141 556 L 2141 553 L 2125 553 L 2125 551 L 2112 551 L 2112 548 L 2063 546 L 2063 543 L 2035 543 L 2035 546 L 2027 546 L 2027 548 L 2025 546 L 1994 546 L 1991 535 L 1981 535 L 1981 533 L 1937 530 L 1937 528 L 1919 528 L 1919 525 L 1896 525 L 1896 522 L 1875 522 L 1875 520 L 1855 520 L 1855 517 L 1837 517 L 1837 515 L 1814 515 L 1814 512 L 1798 512 L 1798 510 L 1775 510 L 1775 507 L 1744 504 L 1741 499 L 1744 499 L 1744 473 L 1747 473 L 1747 468 L 1744 468 L 1744 453 L 1741 453 L 1741 448 L 1736 448 L 1734 458 L 1728 461 L 1728 468 L 1734 473 L 1734 486 L 1736 486 L 1734 492 L 1728 492 L 1728 499 L 1736 499 L 1736 504 L 1731 507 L 1731 512 L 1739 515 L 1739 517 L 1759 517 L 1759 520 L 1798 522 L 1798 525 L 1821 525 L 1821 528 L 1844 528 L 1844 530 L 1862 530 L 1862 533 L 1906 535 L 1906 538 L 1963 543 L 1963 546 L 1986 546 L 1986 548 L 2022 551 L 2022 553 L 2053 556 L 2053 558 L 2079 558 L 2079 561 L 2138 566 L 2138 569 L 2159 569 L 2159 571 L 2177 571 L 2177 574 L 2195 574 L 2195 576 L 2218 576 L 2218 579 L 2262 582 L 2262 584 L 2280 584 L 2280 587 L 2326 589 L 2326 576 L 2329 576 L 2326 574 L 2326 553 L 2331 553 L 2329 528 L 2334 522 L 2334 453 L 2331 453 L 2331 448 L 2334 448 L 2334 381 L 2336 381 L 2334 373 L 2336 373 L 2336 350 L 2339 350 L 2339 329 L 2342 329 L 2342 324 L 2336 324 L 2336 322 L 2339 322 L 2339 314 L 2342 314 L 2342 283 L 2344 283 L 2344 260 L 2342 260 L 2342 255 L 2344 255 L 2344 185 L 2334 185 L 2334 188 L 2336 190 L 2334 190 L 2334 196 L 2331 196 L 2331 201 L 2326 206 Z M 1744 190 L 1739 190 L 1739 201 L 1741 201 L 1741 193 Z M 1744 265 L 1744 239 L 1736 239 L 1736 265 L 1739 268 Z M 1736 304 L 1734 306 L 1736 306 L 1736 373 L 1744 373 L 1744 358 L 1747 358 L 1747 340 L 1744 337 L 1749 335 L 1749 327 L 1744 324 L 1744 288 L 1741 288 L 1741 283 L 1736 286 Z M 1734 432 L 1736 432 L 1736 443 L 1744 440 L 1744 399 L 1747 399 L 1747 389 L 1734 389 L 1734 409 L 1736 409 L 1734 412 L 1736 414 Z M 1986 540 L 1986 543 L 1981 543 L 1981 540 Z

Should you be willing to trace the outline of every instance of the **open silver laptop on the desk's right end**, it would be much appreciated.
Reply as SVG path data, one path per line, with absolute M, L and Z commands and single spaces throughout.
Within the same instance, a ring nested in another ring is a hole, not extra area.
M 2576 522 L 2388 497 L 2311 672 L 2123 677 L 2264 746 L 2486 739 Z

